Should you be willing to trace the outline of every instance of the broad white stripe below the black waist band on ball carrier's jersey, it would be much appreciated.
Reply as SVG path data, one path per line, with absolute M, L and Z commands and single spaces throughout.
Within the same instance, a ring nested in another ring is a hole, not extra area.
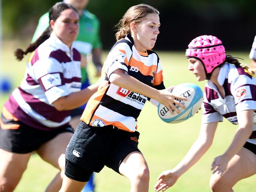
M 108 122 L 121 122 L 130 131 L 136 131 L 137 121 L 133 117 L 123 116 L 120 113 L 112 111 L 102 105 L 99 105 L 95 115 L 102 118 L 103 121 L 106 120 Z

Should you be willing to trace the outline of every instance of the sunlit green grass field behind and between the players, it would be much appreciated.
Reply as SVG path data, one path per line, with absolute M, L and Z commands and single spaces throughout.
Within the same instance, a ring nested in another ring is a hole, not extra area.
M 28 43 L 28 42 L 26 42 Z M 20 45 L 18 43 L 18 45 Z M 17 43 L 4 42 L 2 53 L 2 69 L 4 75 L 12 79 L 13 88 L 17 87 L 24 75 L 25 60 L 18 62 L 13 57 L 13 50 Z M 25 47 L 25 46 L 22 46 Z M 187 61 L 184 52 L 158 52 L 161 65 L 164 70 L 165 86 L 179 83 L 196 83 L 201 88 L 205 82 L 198 83 L 193 74 L 187 70 Z M 249 63 L 249 53 L 227 52 L 236 57 L 245 58 L 244 63 Z M 104 53 L 106 58 L 106 53 Z M 93 67 L 89 65 L 90 76 L 93 81 Z M 0 106 L 8 98 L 4 95 L 0 98 Z M 138 119 L 138 131 L 141 133 L 139 148 L 143 152 L 150 168 L 150 192 L 156 183 L 158 175 L 167 169 L 173 168 L 187 153 L 191 144 L 197 138 L 200 128 L 200 111 L 193 118 L 180 124 L 167 124 L 160 120 L 157 109 L 150 103 L 145 105 Z M 219 124 L 213 145 L 210 150 L 200 159 L 195 166 L 187 171 L 177 183 L 167 191 L 170 192 L 208 192 L 209 179 L 211 176 L 210 165 L 214 157 L 222 154 L 230 144 L 236 131 L 236 126 L 224 120 Z M 38 155 L 33 155 L 28 168 L 15 192 L 42 192 L 46 185 L 54 177 L 58 170 L 43 162 Z M 15 174 L 15 173 L 14 173 Z M 237 192 L 255 192 L 256 175 L 243 179 L 234 187 Z M 128 192 L 130 183 L 125 177 L 116 174 L 109 168 L 96 174 L 96 192 Z

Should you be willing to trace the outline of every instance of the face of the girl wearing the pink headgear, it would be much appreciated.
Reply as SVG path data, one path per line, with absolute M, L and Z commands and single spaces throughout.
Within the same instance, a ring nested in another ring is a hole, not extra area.
M 204 81 L 206 79 L 206 74 L 202 62 L 195 58 L 189 58 L 187 60 L 189 62 L 188 70 L 193 72 L 197 81 Z

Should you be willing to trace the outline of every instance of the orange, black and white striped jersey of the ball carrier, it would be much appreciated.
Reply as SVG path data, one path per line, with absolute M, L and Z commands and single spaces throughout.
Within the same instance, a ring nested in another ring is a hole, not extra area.
M 109 52 L 102 68 L 102 83 L 87 102 L 81 120 L 90 126 L 113 125 L 134 132 L 137 117 L 150 98 L 109 83 L 109 76 L 117 69 L 151 87 L 165 89 L 158 55 L 152 50 L 145 53 L 137 51 L 128 34 L 116 42 Z

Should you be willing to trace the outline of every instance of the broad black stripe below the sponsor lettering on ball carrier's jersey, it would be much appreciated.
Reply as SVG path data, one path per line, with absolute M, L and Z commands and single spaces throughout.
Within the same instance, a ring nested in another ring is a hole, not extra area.
M 120 102 L 119 100 L 115 100 L 114 98 L 106 94 L 104 94 L 104 96 L 102 97 L 100 105 L 119 114 L 122 114 L 127 117 L 131 116 L 135 119 L 139 116 L 139 113 L 141 112 L 141 109 L 137 109 L 131 105 Z

